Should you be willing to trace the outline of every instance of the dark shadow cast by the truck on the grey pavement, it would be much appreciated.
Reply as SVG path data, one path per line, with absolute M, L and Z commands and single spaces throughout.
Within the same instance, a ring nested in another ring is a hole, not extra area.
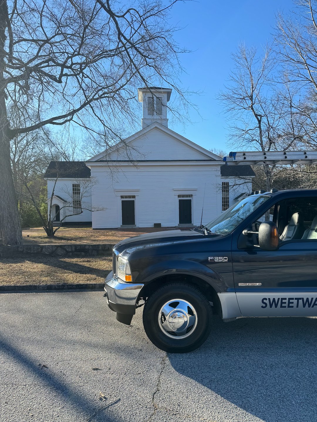
M 217 320 L 201 348 L 169 360 L 266 422 L 316 421 L 316 341 L 317 319 Z

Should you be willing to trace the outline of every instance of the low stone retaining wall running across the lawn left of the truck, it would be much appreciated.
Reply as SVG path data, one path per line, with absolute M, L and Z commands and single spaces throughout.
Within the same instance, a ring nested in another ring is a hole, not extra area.
M 109 256 L 114 244 L 51 244 L 51 245 L 1 245 L 0 257 L 14 257 L 20 254 L 41 254 L 49 256 L 84 257 L 91 255 Z

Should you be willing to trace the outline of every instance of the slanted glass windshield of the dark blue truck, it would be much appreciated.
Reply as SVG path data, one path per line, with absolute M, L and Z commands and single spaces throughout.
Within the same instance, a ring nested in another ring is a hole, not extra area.
M 248 215 L 256 210 L 262 203 L 269 199 L 269 196 L 248 196 L 238 204 L 228 208 L 215 220 L 205 227 L 214 234 L 231 233 Z

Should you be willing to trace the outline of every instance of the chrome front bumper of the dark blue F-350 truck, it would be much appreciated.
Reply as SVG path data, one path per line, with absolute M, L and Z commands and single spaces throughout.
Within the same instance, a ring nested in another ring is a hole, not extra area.
M 125 283 L 115 279 L 112 272 L 108 274 L 104 290 L 107 293 L 107 304 L 112 311 L 117 312 L 118 321 L 125 324 L 131 323 L 132 316 L 135 314 L 137 298 L 143 286 L 144 284 Z M 126 322 L 129 320 L 130 322 Z

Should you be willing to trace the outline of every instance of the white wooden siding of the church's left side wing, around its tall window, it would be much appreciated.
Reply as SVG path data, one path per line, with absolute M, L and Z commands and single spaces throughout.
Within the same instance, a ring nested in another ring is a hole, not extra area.
M 87 180 L 87 179 L 86 179 Z M 47 180 L 47 199 L 51 198 L 52 195 L 52 189 L 54 187 L 55 181 L 53 180 Z M 71 202 L 72 198 L 72 184 L 73 183 L 81 183 L 80 179 L 58 179 L 55 185 L 54 189 L 54 195 L 58 195 L 65 199 L 67 202 Z M 54 205 L 54 200 L 52 205 Z M 84 197 L 82 198 L 82 208 L 89 208 L 91 209 L 91 189 L 87 189 L 87 193 L 84 194 Z M 60 211 L 61 216 L 60 218 L 63 218 L 62 213 L 66 214 L 72 214 L 73 208 L 67 207 L 63 208 L 63 210 Z M 69 217 L 66 217 L 63 222 L 90 222 L 91 221 L 91 211 L 84 210 L 82 214 L 74 214 Z

